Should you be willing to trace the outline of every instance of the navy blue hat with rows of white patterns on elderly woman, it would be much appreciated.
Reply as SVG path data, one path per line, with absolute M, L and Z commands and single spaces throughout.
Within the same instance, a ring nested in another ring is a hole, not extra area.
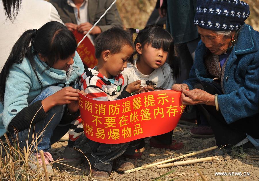
M 197 0 L 194 24 L 209 30 L 238 30 L 249 14 L 249 5 L 243 1 Z

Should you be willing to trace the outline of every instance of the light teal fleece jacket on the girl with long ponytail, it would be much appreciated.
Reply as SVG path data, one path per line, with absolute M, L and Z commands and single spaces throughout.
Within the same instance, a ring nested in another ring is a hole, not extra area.
M 5 83 L 4 105 L 0 103 L 0 136 L 7 131 L 9 123 L 16 114 L 24 107 L 27 107 L 43 89 L 48 86 L 54 86 L 58 82 L 66 84 L 66 87 L 68 87 L 71 82 L 75 85 L 77 78 L 83 74 L 84 66 L 77 52 L 73 58 L 74 71 L 69 78 L 67 78 L 64 70 L 54 68 L 46 70 L 46 63 L 40 61 L 37 55 L 35 55 L 34 59 L 37 75 L 43 87 L 41 88 L 41 84 L 27 58 L 24 58 L 22 63 L 12 65 Z M 63 86 L 62 84 L 58 85 Z M 12 112 L 13 109 L 17 111 Z

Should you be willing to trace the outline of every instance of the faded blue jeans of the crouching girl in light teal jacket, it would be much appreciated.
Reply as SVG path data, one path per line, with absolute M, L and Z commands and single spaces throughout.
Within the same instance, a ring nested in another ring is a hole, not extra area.
M 59 91 L 61 89 L 62 88 L 59 86 L 47 87 L 30 103 L 30 105 L 35 103 L 36 101 L 43 100 L 43 99 L 49 97 L 50 95 L 53 95 L 54 93 L 56 93 L 57 91 Z M 51 146 L 50 139 L 52 137 L 54 129 L 60 123 L 60 120 L 64 114 L 64 108 L 65 108 L 65 105 L 58 105 L 58 106 L 52 107 L 52 109 L 50 109 L 47 112 L 47 117 L 45 119 L 32 125 L 30 130 L 28 128 L 22 132 L 19 132 L 18 133 L 19 146 L 21 148 L 23 148 L 24 146 L 26 147 L 27 139 L 28 139 L 28 144 L 30 144 L 32 142 L 33 134 L 34 134 L 34 139 L 35 139 L 35 136 L 36 136 L 35 133 L 37 133 L 37 135 L 39 135 L 41 133 L 41 131 L 47 125 L 47 127 L 45 128 L 45 131 L 43 132 L 43 135 L 38 138 L 37 150 L 38 151 L 43 150 L 44 152 L 49 151 L 50 146 Z M 54 114 L 56 114 L 56 115 L 54 115 Z M 54 115 L 54 117 L 52 118 L 53 115 Z M 49 121 L 49 120 L 51 120 L 51 121 Z M 29 135 L 29 137 L 28 137 L 28 135 Z M 41 142 L 39 142 L 40 139 L 42 139 Z M 36 152 L 36 149 L 34 151 Z

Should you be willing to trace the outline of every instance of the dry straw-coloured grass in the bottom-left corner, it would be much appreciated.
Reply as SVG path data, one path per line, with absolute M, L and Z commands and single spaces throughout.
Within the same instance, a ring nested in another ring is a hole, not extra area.
M 37 113 L 36 113 L 37 114 Z M 54 117 L 55 115 L 53 115 Z M 53 118 L 52 117 L 52 118 Z M 51 119 L 52 120 L 52 119 Z M 49 122 L 51 121 L 49 120 Z M 48 123 L 49 124 L 49 123 Z M 47 125 L 48 125 L 47 124 Z M 45 126 L 45 128 L 47 127 Z M 31 128 L 31 126 L 30 126 Z M 43 171 L 43 166 L 39 165 L 39 161 L 33 161 L 32 155 L 34 152 L 38 153 L 37 145 L 41 141 L 41 136 L 43 136 L 45 128 L 39 134 L 32 135 L 32 142 L 26 143 L 26 147 L 20 148 L 18 143 L 18 134 L 16 134 L 16 139 L 12 139 L 12 143 L 10 143 L 7 135 L 5 134 L 5 143 L 0 140 L 0 180 L 46 180 L 46 176 Z M 29 135 L 28 135 L 29 136 Z M 27 138 L 28 139 L 28 138 Z M 56 161 L 52 161 L 48 164 L 58 163 L 62 165 L 66 165 L 61 163 L 63 159 L 58 159 Z M 37 165 L 35 170 L 31 170 L 29 167 L 29 163 L 33 162 Z M 71 167 L 73 169 L 80 170 L 78 168 L 66 165 L 67 167 Z M 57 170 L 54 169 L 54 173 L 49 175 L 50 180 L 89 180 L 88 176 L 85 175 L 74 175 L 72 172 L 60 172 L 57 167 Z M 89 174 L 91 176 L 91 174 Z

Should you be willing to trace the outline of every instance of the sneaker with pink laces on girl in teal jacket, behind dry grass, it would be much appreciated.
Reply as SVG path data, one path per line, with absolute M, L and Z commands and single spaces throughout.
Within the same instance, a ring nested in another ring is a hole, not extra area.
M 53 158 L 52 158 L 52 155 L 49 152 L 44 152 L 43 154 L 44 154 L 44 158 L 45 158 L 44 161 L 45 161 L 46 164 L 54 161 Z M 39 153 L 38 154 L 33 153 L 31 155 L 31 157 L 29 158 L 29 166 L 30 166 L 31 170 L 34 170 L 34 171 L 37 170 L 37 167 L 38 167 L 37 160 L 39 161 L 39 170 L 43 171 L 43 167 L 40 167 L 42 165 L 43 160 L 41 159 L 41 155 Z M 47 172 L 49 174 L 52 174 L 53 173 L 52 166 L 46 165 L 46 167 L 47 167 Z

